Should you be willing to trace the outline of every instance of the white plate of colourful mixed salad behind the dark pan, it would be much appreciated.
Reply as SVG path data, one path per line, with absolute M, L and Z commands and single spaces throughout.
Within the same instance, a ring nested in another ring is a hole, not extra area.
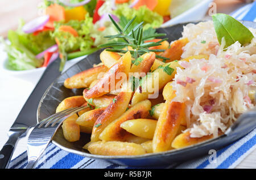
M 39 79 L 49 63 L 61 58 L 59 70 L 80 61 L 98 50 L 105 36 L 117 34 L 109 15 L 115 21 L 136 16 L 143 28 L 200 20 L 197 8 L 208 10 L 211 1 L 187 0 L 44 0 L 44 15 L 31 22 L 19 21 L 15 31 L 8 32 L 4 44 L 2 69 L 10 75 Z M 194 9 L 194 10 L 193 10 Z M 195 14 L 197 14 L 195 16 Z M 204 13 L 205 14 L 205 13 Z M 203 15 L 204 15 L 203 14 Z M 174 17 L 172 19 L 172 16 Z M 183 18 L 182 18 L 183 17 Z M 137 23 L 138 23 L 137 22 Z

